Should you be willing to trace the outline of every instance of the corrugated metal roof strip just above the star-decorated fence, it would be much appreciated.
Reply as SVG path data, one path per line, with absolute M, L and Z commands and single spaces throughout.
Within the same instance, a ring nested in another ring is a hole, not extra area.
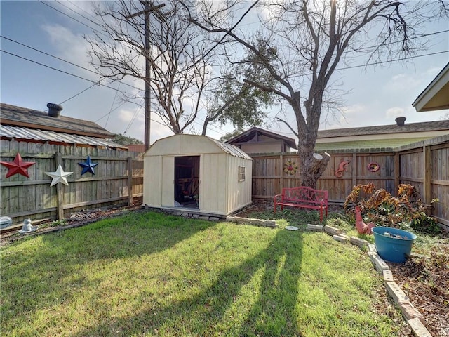
M 1 125 L 0 126 L 1 138 L 20 139 L 28 141 L 40 141 L 42 143 L 67 143 L 74 145 L 90 145 L 109 147 L 113 149 L 128 150 L 128 147 L 114 143 L 112 140 L 105 138 L 96 138 L 89 136 L 72 135 L 69 133 L 60 133 L 54 131 L 43 131 L 33 128 L 22 128 L 19 126 Z

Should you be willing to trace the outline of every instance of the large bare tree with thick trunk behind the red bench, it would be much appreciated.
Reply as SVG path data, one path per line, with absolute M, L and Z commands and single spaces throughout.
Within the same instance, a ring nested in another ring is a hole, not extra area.
M 229 13 L 236 13 L 242 1 L 224 1 Z M 411 3 L 411 4 L 409 4 Z M 394 60 L 422 48 L 414 39 L 417 27 L 438 15 L 448 15 L 445 1 L 391 0 L 290 0 L 264 1 L 261 34 L 275 58 L 260 53 L 243 32 L 230 30 L 231 24 L 215 20 L 203 1 L 199 15 L 191 21 L 210 34 L 226 34 L 253 53 L 274 79 L 274 85 L 246 79 L 246 84 L 276 94 L 288 103 L 295 125 L 279 118 L 297 136 L 302 185 L 316 187 L 329 157 L 314 155 L 321 110 L 326 103 L 331 77 L 338 65 L 351 62 L 355 53 L 368 53 L 369 60 Z

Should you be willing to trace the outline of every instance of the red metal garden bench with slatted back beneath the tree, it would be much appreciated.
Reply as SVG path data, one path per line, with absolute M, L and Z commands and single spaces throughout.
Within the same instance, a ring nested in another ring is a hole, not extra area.
M 323 221 L 323 211 L 328 216 L 328 196 L 329 192 L 325 190 L 314 190 L 310 187 L 292 187 L 283 188 L 281 194 L 274 196 L 274 213 L 276 206 L 301 207 L 303 209 L 319 209 L 320 221 Z

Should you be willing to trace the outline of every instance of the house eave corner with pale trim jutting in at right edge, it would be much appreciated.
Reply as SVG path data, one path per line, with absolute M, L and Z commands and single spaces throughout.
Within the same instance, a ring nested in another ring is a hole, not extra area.
M 449 109 L 449 63 L 412 103 L 417 112 Z

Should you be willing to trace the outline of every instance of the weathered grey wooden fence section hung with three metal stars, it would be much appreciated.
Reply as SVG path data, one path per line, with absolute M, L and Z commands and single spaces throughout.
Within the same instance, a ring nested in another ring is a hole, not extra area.
M 25 218 L 62 219 L 80 209 L 133 204 L 133 199 L 142 197 L 143 161 L 136 152 L 1 140 L 1 161 L 13 161 L 18 152 L 24 161 L 36 164 L 27 169 L 29 178 L 20 174 L 5 178 L 8 168 L 1 166 L 1 216 L 14 223 Z M 95 175 L 81 176 L 78 163 L 88 156 L 98 164 Z M 73 172 L 67 177 L 69 185 L 50 187 L 52 180 L 45 172 L 56 171 L 59 164 Z

